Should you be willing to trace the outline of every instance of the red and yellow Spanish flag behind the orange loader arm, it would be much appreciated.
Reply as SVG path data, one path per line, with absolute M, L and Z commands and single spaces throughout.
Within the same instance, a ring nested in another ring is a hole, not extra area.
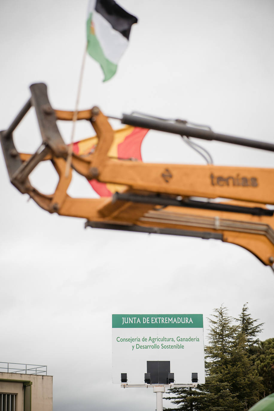
M 147 134 L 148 129 L 140 127 L 126 126 L 115 130 L 108 157 L 116 159 L 132 159 L 142 161 L 141 144 Z M 78 155 L 85 155 L 94 152 L 98 142 L 98 137 L 90 137 L 73 144 L 73 151 Z M 101 197 L 112 196 L 115 192 L 120 192 L 124 186 L 119 184 L 103 183 L 97 180 L 89 180 L 90 185 Z

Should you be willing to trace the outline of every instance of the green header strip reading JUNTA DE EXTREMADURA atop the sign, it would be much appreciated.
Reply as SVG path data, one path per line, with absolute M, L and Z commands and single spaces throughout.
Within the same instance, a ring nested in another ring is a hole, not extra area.
M 203 314 L 113 314 L 112 328 L 203 328 Z

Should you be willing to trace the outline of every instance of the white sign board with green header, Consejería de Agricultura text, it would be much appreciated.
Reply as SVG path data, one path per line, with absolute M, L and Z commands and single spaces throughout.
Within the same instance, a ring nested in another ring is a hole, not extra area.
M 127 373 L 128 384 L 144 384 L 155 361 L 170 362 L 177 384 L 191 384 L 193 372 L 205 383 L 203 314 L 113 314 L 113 383 Z

